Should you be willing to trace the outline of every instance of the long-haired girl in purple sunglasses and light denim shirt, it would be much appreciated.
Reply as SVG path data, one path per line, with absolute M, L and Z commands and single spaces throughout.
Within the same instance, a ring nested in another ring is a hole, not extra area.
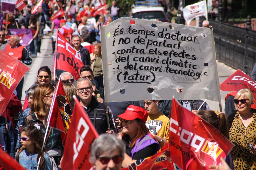
M 20 135 L 22 147 L 16 153 L 15 159 L 26 169 L 36 170 L 40 158 L 40 170 L 52 170 L 49 156 L 42 149 L 43 135 L 40 126 L 27 126 Z

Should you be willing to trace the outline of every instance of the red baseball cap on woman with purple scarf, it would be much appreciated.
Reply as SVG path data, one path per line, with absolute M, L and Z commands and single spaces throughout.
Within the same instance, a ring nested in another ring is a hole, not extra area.
M 118 115 L 118 117 L 121 117 L 125 120 L 134 120 L 139 118 L 145 123 L 147 121 L 147 116 L 148 113 L 145 109 L 134 105 L 128 106 L 123 114 Z

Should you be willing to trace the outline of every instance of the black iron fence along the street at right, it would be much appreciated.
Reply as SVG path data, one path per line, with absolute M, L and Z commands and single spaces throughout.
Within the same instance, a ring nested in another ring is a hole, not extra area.
M 211 19 L 209 22 L 213 27 L 216 58 L 251 75 L 256 62 L 256 31 L 251 30 L 249 19 L 246 28 Z

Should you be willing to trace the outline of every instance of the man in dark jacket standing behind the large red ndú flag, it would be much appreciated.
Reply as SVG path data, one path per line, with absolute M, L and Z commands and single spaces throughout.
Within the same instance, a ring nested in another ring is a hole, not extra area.
M 79 56 L 81 56 L 81 60 L 84 65 L 89 65 L 91 64 L 91 58 L 89 54 L 89 50 L 83 46 L 81 46 L 81 39 L 78 35 L 74 35 L 72 37 L 72 44 L 74 46 L 74 49 L 77 51 Z

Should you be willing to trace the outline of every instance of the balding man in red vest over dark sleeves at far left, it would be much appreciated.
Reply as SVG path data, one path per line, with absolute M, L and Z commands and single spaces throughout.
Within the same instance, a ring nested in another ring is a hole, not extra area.
M 32 63 L 32 59 L 28 55 L 28 50 L 23 45 L 20 45 L 19 41 L 20 39 L 17 35 L 12 35 L 10 37 L 9 44 L 5 47 L 5 52 L 10 56 L 13 56 L 22 61 L 23 63 L 30 65 Z M 21 100 L 22 96 L 23 82 L 24 78 L 21 79 L 18 86 L 16 87 L 17 97 L 19 100 Z

